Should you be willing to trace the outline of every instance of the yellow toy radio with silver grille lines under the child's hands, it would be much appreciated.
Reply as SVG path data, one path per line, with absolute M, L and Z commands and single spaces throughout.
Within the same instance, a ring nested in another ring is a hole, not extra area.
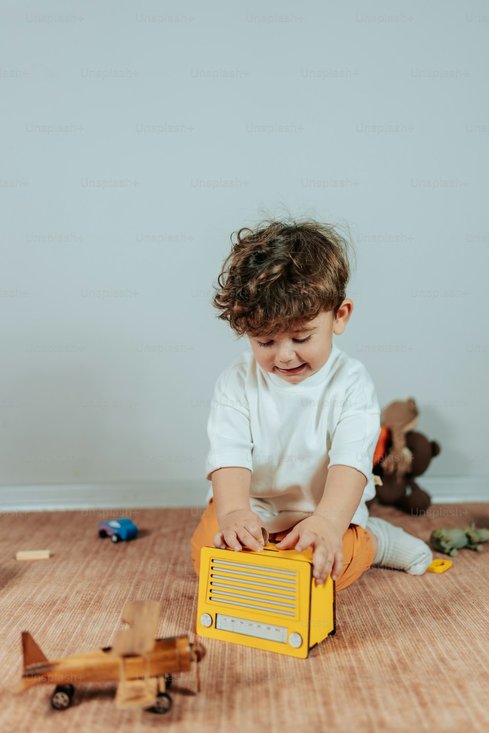
M 306 659 L 336 630 L 335 584 L 312 575 L 312 550 L 203 547 L 196 633 Z

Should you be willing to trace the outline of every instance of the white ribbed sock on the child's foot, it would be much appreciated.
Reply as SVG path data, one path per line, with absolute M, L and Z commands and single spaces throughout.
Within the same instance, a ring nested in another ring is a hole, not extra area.
M 373 565 L 386 565 L 405 570 L 410 575 L 423 575 L 433 561 L 433 553 L 422 539 L 413 537 L 380 517 L 369 517 L 367 528 L 378 539 L 378 550 Z

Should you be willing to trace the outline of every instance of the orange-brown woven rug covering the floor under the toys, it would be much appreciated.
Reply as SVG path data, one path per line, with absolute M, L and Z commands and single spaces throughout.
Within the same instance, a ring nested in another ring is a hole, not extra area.
M 424 516 L 370 507 L 428 541 L 436 527 L 489 526 L 489 504 L 436 504 Z M 306 660 L 202 639 L 195 665 L 174 679 L 172 710 L 118 710 L 116 683 L 79 685 L 73 706 L 51 708 L 52 685 L 14 695 L 21 631 L 49 659 L 109 646 L 127 600 L 162 603 L 158 636 L 194 640 L 198 579 L 190 556 L 199 508 L 126 510 L 133 542 L 99 539 L 120 512 L 0 515 L 1 733 L 465 733 L 489 726 L 489 544 L 460 550 L 444 573 L 371 568 L 337 594 L 337 634 Z M 16 561 L 49 549 L 51 559 Z M 445 557 L 434 553 L 435 557 Z

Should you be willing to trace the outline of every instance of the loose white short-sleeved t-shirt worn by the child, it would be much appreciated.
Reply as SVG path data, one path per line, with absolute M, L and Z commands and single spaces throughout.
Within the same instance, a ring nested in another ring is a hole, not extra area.
M 375 496 L 372 460 L 380 407 L 367 369 L 334 342 L 326 364 L 297 384 L 265 372 L 251 348 L 244 350 L 216 380 L 207 435 L 206 479 L 217 468 L 249 468 L 251 510 L 269 532 L 314 512 L 335 464 L 366 477 L 351 520 L 366 526 L 365 501 Z M 211 496 L 212 485 L 207 503 Z

